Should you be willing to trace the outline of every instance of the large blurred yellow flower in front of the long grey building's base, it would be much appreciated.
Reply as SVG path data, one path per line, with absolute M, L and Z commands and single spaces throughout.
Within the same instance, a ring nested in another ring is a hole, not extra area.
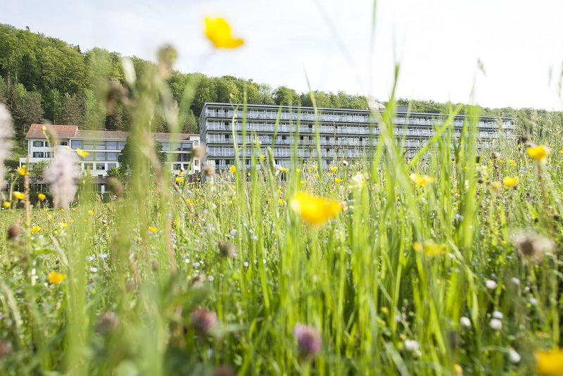
M 342 211 L 339 201 L 299 191 L 291 197 L 291 209 L 310 227 L 319 227 Z

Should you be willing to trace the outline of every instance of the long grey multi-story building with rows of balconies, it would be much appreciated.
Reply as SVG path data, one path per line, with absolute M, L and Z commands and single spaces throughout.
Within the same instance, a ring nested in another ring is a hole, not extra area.
M 234 125 L 236 141 L 240 145 L 243 118 L 246 118 L 246 143 L 254 144 L 256 135 L 262 146 L 272 147 L 277 165 L 285 167 L 289 167 L 291 146 L 295 143 L 298 158 L 316 158 L 316 125 L 325 164 L 340 158 L 359 158 L 369 148 L 377 146 L 379 136 L 378 127 L 373 126 L 377 121 L 368 110 L 317 108 L 315 113 L 311 107 L 248 104 L 243 114 L 242 104 L 206 103 L 199 118 L 201 141 L 207 147 L 205 163 L 219 169 L 234 164 L 232 130 Z M 414 155 L 424 146 L 435 134 L 436 125 L 443 123 L 445 118 L 447 115 L 408 113 L 407 108 L 398 108 L 393 118 L 394 134 L 403 144 L 407 156 Z M 463 115 L 455 117 L 454 138 L 460 137 L 465 120 Z M 515 125 L 510 118 L 483 116 L 477 125 L 479 148 L 490 148 L 498 143 L 500 130 L 508 139 L 515 137 Z

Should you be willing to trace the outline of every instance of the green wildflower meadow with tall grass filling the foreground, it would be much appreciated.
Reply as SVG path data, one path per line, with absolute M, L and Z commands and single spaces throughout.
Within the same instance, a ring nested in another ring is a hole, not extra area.
M 138 148 L 109 202 L 87 177 L 61 186 L 73 158 L 34 205 L 8 173 L 3 375 L 563 374 L 558 134 L 479 149 L 476 106 L 453 138 L 458 106 L 405 158 L 392 93 L 363 158 L 324 167 L 294 146 L 286 170 L 235 144 L 229 171 L 188 182 L 148 137 L 191 100 L 170 101 L 161 52 L 139 77 L 125 60 L 130 93 L 110 97 Z

